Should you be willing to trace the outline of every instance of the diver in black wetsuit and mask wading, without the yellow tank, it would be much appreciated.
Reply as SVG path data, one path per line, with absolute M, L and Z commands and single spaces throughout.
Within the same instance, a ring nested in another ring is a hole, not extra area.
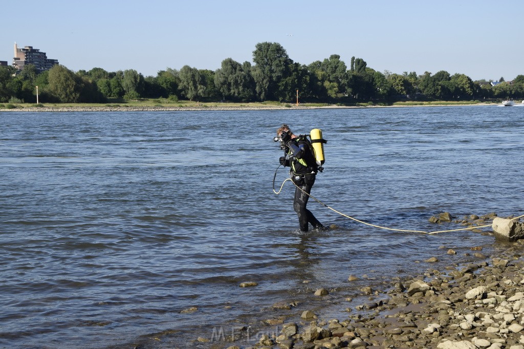
M 280 141 L 280 148 L 284 150 L 284 156 L 279 159 L 280 164 L 290 167 L 291 180 L 297 185 L 293 209 L 297 212 L 300 230 L 308 231 L 309 223 L 316 229 L 324 230 L 322 223 L 306 208 L 316 173 L 319 170 L 322 172 L 322 167 L 319 167 L 319 163 L 315 160 L 310 141 L 306 136 L 296 136 L 286 124 L 278 128 L 277 138 Z

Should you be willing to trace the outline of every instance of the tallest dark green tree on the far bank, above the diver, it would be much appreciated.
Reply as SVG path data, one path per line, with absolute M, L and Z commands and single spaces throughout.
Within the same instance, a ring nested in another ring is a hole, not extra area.
M 253 78 L 257 97 L 260 100 L 276 100 L 283 97 L 279 83 L 289 74 L 289 65 L 293 63 L 286 50 L 276 42 L 259 42 L 253 51 Z

